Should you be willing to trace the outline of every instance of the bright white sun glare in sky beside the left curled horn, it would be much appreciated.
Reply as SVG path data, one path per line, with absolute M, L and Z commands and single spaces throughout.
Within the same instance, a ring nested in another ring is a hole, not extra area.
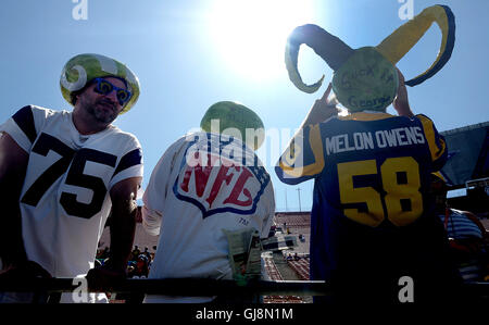
M 218 55 L 229 68 L 266 79 L 285 73 L 287 36 L 312 18 L 309 1 L 216 0 L 210 26 Z

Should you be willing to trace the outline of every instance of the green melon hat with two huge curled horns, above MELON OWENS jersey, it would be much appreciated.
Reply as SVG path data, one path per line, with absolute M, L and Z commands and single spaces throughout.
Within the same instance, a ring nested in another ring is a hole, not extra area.
M 393 101 L 398 89 L 396 64 L 416 45 L 429 26 L 436 22 L 442 40 L 435 63 L 423 74 L 405 82 L 419 85 L 440 71 L 451 57 L 455 40 L 455 18 L 447 5 L 432 5 L 400 26 L 377 47 L 351 49 L 338 37 L 316 25 L 297 27 L 290 34 L 285 53 L 289 78 L 300 90 L 312 93 L 319 89 L 323 77 L 305 85 L 298 71 L 299 48 L 311 47 L 334 71 L 333 90 L 338 101 L 349 111 L 385 109 Z

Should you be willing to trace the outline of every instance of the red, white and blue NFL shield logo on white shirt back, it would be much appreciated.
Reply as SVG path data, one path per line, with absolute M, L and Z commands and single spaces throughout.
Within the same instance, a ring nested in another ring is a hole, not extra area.
M 202 218 L 224 212 L 254 213 L 269 175 L 254 159 L 249 166 L 241 154 L 237 158 L 236 152 L 216 147 L 217 150 L 189 147 L 186 163 L 173 186 L 175 196 L 199 208 Z

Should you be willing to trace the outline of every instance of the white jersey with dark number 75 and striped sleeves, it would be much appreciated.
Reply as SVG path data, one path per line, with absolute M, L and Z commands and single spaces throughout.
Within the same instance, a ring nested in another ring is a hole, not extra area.
M 80 135 L 66 111 L 25 107 L 0 126 L 28 154 L 20 197 L 27 258 L 52 276 L 93 266 L 118 182 L 142 176 L 138 140 L 115 126 Z

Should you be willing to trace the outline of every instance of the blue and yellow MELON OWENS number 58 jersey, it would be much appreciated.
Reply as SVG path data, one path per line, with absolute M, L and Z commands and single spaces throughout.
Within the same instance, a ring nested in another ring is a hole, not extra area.
M 352 263 L 359 248 L 431 215 L 430 174 L 446 160 L 444 139 L 424 115 L 361 112 L 296 135 L 276 173 L 287 184 L 315 179 L 312 277 L 340 261 Z

